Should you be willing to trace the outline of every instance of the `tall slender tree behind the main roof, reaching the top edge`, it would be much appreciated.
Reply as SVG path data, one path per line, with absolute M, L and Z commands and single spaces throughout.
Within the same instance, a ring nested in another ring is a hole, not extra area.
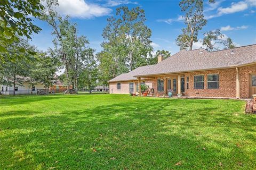
M 209 0 L 209 3 L 214 3 L 214 0 Z M 182 29 L 181 35 L 176 39 L 176 44 L 180 49 L 192 50 L 193 43 L 197 42 L 198 32 L 202 30 L 206 25 L 207 20 L 204 19 L 203 0 L 182 0 L 180 2 L 180 8 L 182 12 L 185 12 L 183 16 L 186 28 Z

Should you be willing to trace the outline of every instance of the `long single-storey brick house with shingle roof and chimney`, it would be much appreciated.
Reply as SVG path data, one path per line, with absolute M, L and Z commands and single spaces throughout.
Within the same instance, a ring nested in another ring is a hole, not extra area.
M 139 91 L 145 81 L 155 94 L 188 97 L 251 98 L 256 94 L 256 45 L 207 52 L 181 50 L 158 63 L 142 66 L 109 80 L 110 94 Z

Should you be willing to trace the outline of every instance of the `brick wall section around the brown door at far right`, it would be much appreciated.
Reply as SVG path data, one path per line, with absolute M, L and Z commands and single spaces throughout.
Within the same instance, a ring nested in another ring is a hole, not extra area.
M 256 73 L 256 65 L 245 66 L 239 68 L 239 80 L 240 80 L 240 97 L 250 97 L 250 74 Z

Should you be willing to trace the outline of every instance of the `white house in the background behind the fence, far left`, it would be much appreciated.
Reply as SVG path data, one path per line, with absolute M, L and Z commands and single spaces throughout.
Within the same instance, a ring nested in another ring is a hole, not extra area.
M 5 86 L 5 85 L 0 85 L 0 92 L 2 95 L 9 95 L 9 94 L 13 94 L 13 91 L 17 91 L 17 94 L 28 94 L 31 93 L 31 88 L 30 88 L 30 83 L 24 82 L 22 83 L 22 86 Z M 32 88 L 32 92 L 33 94 L 36 94 L 37 89 L 45 89 L 43 84 L 35 84 Z

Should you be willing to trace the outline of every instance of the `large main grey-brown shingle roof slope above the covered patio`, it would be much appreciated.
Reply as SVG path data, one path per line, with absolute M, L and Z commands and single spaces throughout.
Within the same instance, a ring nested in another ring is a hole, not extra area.
M 231 54 L 232 50 L 234 50 L 234 54 Z M 150 66 L 150 69 L 137 71 L 134 77 L 221 69 L 256 62 L 256 44 L 216 52 L 207 52 L 204 49 L 202 53 L 200 51 L 200 49 L 181 50 L 162 62 Z

